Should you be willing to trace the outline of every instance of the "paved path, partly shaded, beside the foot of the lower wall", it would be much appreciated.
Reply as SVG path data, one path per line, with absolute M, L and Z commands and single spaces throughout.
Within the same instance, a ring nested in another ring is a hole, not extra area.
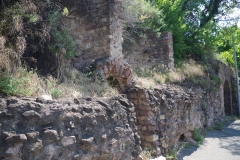
M 240 120 L 222 131 L 209 131 L 200 147 L 181 150 L 179 160 L 240 160 Z

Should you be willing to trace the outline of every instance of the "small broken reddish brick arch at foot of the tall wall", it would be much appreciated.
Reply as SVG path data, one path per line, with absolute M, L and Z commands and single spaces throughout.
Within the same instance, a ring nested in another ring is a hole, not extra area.
M 98 62 L 97 70 L 104 79 L 114 78 L 120 85 L 120 91 L 124 91 L 133 82 L 133 71 L 131 66 L 122 58 L 108 58 Z

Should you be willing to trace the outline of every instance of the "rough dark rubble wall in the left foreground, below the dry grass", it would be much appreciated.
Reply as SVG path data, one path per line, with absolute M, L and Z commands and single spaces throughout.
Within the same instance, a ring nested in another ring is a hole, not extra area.
M 135 121 L 121 97 L 1 97 L 0 159 L 130 160 L 141 152 Z

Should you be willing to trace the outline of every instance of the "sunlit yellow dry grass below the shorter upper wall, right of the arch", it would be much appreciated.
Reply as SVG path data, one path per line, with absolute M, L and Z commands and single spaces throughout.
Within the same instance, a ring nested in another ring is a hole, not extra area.
M 135 70 L 138 77 L 137 84 L 149 88 L 158 84 L 182 83 L 190 80 L 194 84 L 206 85 L 204 77 L 204 68 L 195 62 L 185 62 L 177 66 L 173 71 L 166 71 L 159 66 L 151 68 L 138 68 Z

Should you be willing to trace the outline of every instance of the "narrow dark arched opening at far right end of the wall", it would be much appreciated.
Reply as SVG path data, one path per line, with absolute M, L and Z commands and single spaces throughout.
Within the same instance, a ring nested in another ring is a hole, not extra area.
M 224 82 L 224 110 L 225 115 L 230 116 L 232 113 L 232 106 L 231 106 L 231 92 L 228 81 Z

